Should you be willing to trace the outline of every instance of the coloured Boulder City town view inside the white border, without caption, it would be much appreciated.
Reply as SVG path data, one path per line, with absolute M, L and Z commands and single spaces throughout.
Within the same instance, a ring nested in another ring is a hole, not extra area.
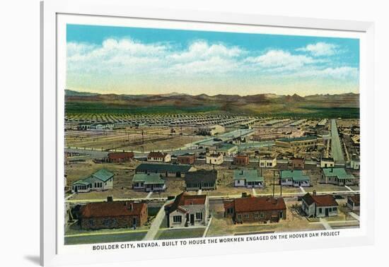
M 359 228 L 359 55 L 68 23 L 64 245 Z

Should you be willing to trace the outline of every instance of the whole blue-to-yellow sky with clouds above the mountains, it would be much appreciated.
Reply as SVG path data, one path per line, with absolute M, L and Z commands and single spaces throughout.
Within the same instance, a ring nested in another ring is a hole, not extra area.
M 98 93 L 359 91 L 359 40 L 67 25 L 66 88 Z

